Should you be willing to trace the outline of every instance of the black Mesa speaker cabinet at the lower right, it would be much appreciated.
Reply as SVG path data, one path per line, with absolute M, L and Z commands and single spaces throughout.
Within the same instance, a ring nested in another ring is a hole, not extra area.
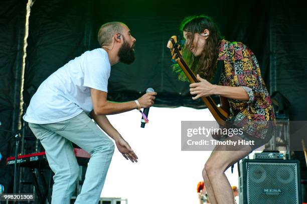
M 298 160 L 243 159 L 240 172 L 240 204 L 301 203 Z

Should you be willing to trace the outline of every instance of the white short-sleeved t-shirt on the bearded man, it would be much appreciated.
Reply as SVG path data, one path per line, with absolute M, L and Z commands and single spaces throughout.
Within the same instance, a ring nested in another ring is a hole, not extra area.
M 46 124 L 93 109 L 90 88 L 107 92 L 111 65 L 105 50 L 83 53 L 50 75 L 31 99 L 24 120 Z

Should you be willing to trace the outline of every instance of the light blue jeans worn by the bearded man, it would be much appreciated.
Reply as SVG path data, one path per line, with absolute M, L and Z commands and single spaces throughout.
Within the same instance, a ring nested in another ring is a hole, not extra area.
M 46 150 L 50 168 L 55 173 L 52 204 L 68 204 L 79 176 L 79 166 L 71 142 L 91 154 L 81 193 L 75 204 L 98 203 L 114 152 L 113 141 L 84 113 L 69 120 L 29 123 Z

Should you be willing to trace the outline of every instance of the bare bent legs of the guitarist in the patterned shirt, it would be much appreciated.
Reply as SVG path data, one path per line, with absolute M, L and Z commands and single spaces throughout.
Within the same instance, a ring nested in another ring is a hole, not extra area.
M 238 136 L 228 137 L 227 140 L 239 140 Z M 217 145 L 207 160 L 203 177 L 211 203 L 234 203 L 231 185 L 225 175 L 226 169 L 251 151 L 250 146 L 234 146 L 229 151 L 229 146 Z

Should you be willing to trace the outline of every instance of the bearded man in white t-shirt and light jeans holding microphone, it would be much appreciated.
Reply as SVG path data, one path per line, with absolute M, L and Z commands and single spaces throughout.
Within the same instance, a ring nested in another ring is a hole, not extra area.
M 98 203 L 114 152 L 114 143 L 107 135 L 127 160 L 137 162 L 136 154 L 105 116 L 154 103 L 156 92 L 125 103 L 107 101 L 111 66 L 134 61 L 135 41 L 121 22 L 102 25 L 98 32 L 101 48 L 69 61 L 49 76 L 32 97 L 24 120 L 45 148 L 55 173 L 52 203 L 70 203 L 77 184 L 79 166 L 71 142 L 91 154 L 75 203 Z

